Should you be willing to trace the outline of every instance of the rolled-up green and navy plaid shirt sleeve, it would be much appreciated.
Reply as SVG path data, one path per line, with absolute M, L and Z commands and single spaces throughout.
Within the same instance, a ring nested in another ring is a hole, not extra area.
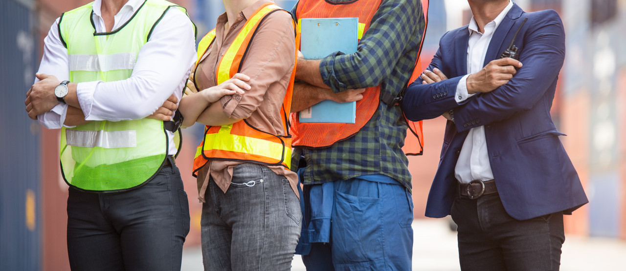
M 324 83 L 333 92 L 378 86 L 398 68 L 398 59 L 414 49 L 408 46 L 416 35 L 421 39 L 424 24 L 421 1 L 383 1 L 359 41 L 357 52 L 334 52 L 321 60 Z

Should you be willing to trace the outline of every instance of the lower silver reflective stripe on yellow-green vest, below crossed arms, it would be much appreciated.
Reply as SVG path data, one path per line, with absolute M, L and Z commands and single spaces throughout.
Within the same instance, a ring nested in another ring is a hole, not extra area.
M 106 149 L 137 146 L 135 131 L 65 131 L 67 144 L 76 147 L 103 147 Z

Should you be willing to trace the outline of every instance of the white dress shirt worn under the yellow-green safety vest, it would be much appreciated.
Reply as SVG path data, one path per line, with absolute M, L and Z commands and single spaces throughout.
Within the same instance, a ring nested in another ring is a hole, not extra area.
M 101 17 L 101 2 L 93 2 L 93 22 L 97 32 L 106 32 Z M 144 0 L 129 0 L 115 15 L 113 30 L 123 26 Z M 59 19 L 50 27 L 44 39 L 44 52 L 39 72 L 69 80 L 68 50 L 61 43 Z M 76 94 L 85 120 L 128 121 L 143 119 L 156 111 L 170 95 L 182 96 L 182 89 L 193 63 L 195 63 L 195 33 L 187 14 L 170 8 L 156 24 L 150 40 L 141 47 L 131 77 L 121 81 L 80 82 Z M 35 79 L 35 82 L 39 81 Z M 39 123 L 48 129 L 63 126 L 67 104 L 58 104 L 51 111 L 37 116 Z M 65 126 L 68 127 L 68 126 Z M 172 132 L 168 154 L 176 154 Z

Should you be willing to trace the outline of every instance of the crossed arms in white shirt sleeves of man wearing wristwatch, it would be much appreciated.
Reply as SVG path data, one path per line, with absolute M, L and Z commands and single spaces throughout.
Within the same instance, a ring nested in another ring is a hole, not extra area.
M 55 22 L 44 41 L 44 55 L 39 67 L 42 73 L 37 75 L 37 81 L 24 101 L 29 117 L 39 119 L 49 129 L 89 121 L 123 121 L 148 116 L 171 119 L 160 107 L 175 109 L 172 103 L 175 105 L 177 97 L 171 96 L 180 97 L 180 94 L 172 92 L 183 83 L 180 79 L 186 77 L 192 64 L 194 34 L 187 15 L 177 9 L 170 9 L 162 22 L 167 23 L 157 24 L 150 40 L 141 47 L 130 78 L 70 83 L 68 96 L 64 98 L 66 104 L 59 104 L 54 96 L 59 79 L 69 79 L 68 51 L 61 44 L 58 21 Z M 52 73 L 55 76 L 48 75 Z

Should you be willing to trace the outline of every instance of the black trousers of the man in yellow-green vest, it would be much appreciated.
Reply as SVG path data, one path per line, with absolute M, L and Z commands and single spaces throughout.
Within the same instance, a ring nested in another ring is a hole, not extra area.
M 187 194 L 175 166 L 125 192 L 69 189 L 72 270 L 180 270 L 188 232 Z

